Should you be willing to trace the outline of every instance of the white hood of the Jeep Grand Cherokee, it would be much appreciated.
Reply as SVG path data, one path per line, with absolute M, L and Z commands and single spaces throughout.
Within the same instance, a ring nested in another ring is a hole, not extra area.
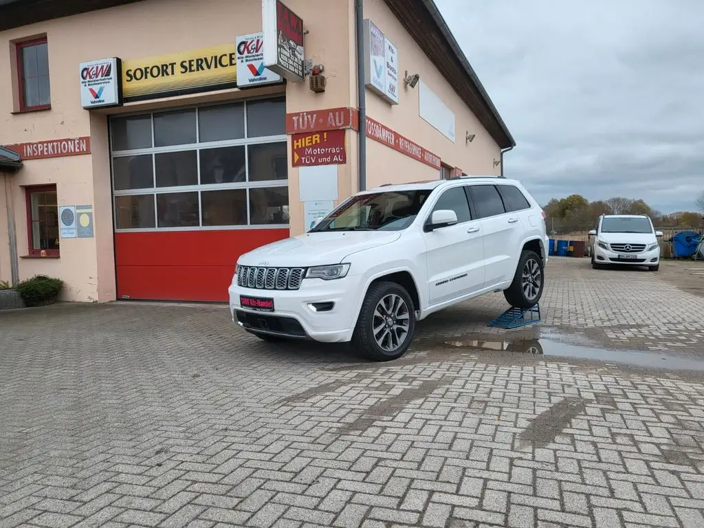
M 389 244 L 400 231 L 341 231 L 299 234 L 242 255 L 245 266 L 301 267 L 337 264 L 346 256 Z

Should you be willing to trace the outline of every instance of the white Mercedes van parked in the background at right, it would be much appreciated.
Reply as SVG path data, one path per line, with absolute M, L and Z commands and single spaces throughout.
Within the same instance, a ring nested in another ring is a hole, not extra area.
M 595 270 L 605 264 L 647 266 L 660 269 L 662 232 L 655 231 L 646 215 L 601 215 L 596 230 L 589 232 L 591 266 Z

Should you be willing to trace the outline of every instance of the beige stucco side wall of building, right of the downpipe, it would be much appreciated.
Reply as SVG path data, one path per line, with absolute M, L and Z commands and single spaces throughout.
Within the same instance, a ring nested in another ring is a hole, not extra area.
M 394 13 L 391 13 L 384 0 L 365 0 L 364 18 L 370 18 L 396 45 L 399 65 L 398 105 L 389 105 L 367 89 L 367 115 L 432 151 L 440 156 L 443 163 L 453 168 L 459 167 L 467 174 L 499 175 L 501 168 L 494 167 L 494 158 L 497 160 L 500 158 L 501 149 L 460 99 L 457 92 L 435 68 L 432 61 L 423 53 L 413 37 L 406 32 Z M 420 84 L 413 89 L 404 87 L 403 75 L 406 70 L 409 75 L 420 74 L 420 79 L 453 111 L 456 127 L 455 143 L 420 118 L 418 114 Z M 465 144 L 467 131 L 470 134 L 476 134 L 476 137 L 471 143 Z M 367 151 L 369 151 L 367 172 L 372 168 L 389 166 L 390 163 L 400 163 L 403 168 L 406 167 L 406 163 L 398 160 L 400 154 L 391 154 L 384 149 L 370 146 L 367 146 Z M 427 174 L 427 165 L 415 162 L 413 166 L 420 177 L 412 178 L 411 181 L 425 179 L 423 175 Z

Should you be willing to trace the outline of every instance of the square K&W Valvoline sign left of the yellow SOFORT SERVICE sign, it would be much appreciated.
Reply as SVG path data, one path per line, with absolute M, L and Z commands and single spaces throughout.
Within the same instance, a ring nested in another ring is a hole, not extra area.
M 83 108 L 103 108 L 122 104 L 122 63 L 119 58 L 80 63 L 81 105 Z

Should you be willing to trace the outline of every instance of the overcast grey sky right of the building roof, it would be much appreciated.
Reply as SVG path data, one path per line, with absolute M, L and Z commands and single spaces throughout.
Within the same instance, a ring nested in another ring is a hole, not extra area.
M 516 140 L 507 177 L 696 209 L 704 0 L 435 1 Z

